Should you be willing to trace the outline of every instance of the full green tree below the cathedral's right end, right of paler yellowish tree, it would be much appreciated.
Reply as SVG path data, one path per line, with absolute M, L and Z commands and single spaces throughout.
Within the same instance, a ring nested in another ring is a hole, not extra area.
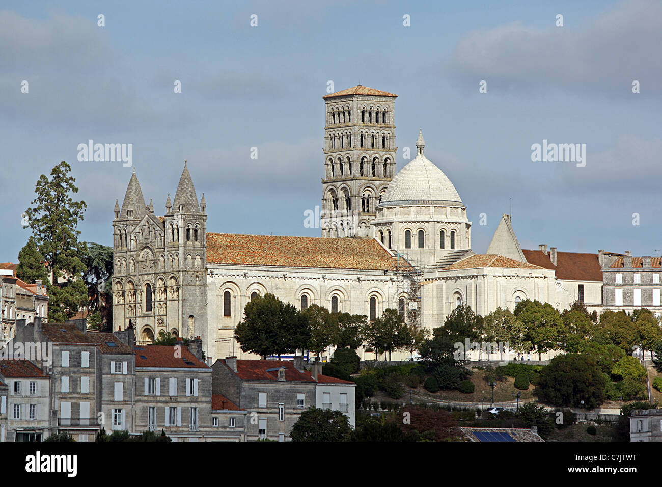
M 517 317 L 526 327 L 525 337 L 536 347 L 538 359 L 542 353 L 559 347 L 565 338 L 561 315 L 551 304 L 541 303 L 538 299 L 520 301 L 517 307 L 526 303 L 520 309 Z M 516 307 L 516 309 L 517 309 Z

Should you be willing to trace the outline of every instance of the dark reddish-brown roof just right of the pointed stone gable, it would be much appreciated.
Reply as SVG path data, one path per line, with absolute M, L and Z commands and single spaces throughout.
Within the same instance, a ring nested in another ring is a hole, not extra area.
M 598 254 L 556 252 L 556 265 L 554 265 L 549 258 L 549 252 L 545 254 L 542 250 L 524 250 L 524 248 L 522 252 L 528 262 L 555 270 L 557 279 L 602 282 L 602 268 L 598 262 Z

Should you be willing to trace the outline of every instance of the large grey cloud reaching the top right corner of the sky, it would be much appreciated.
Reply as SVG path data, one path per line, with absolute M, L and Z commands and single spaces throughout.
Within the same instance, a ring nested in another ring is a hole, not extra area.
M 592 23 L 534 28 L 522 23 L 475 30 L 457 42 L 448 68 L 461 80 L 487 80 L 488 87 L 632 94 L 662 88 L 662 3 L 618 4 Z M 553 19 L 550 19 L 550 23 Z

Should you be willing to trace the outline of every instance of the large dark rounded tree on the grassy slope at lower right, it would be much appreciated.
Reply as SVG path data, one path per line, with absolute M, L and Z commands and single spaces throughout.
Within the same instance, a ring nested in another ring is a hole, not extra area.
M 538 398 L 553 406 L 592 409 L 605 399 L 606 382 L 592 356 L 569 353 L 551 359 L 540 372 Z

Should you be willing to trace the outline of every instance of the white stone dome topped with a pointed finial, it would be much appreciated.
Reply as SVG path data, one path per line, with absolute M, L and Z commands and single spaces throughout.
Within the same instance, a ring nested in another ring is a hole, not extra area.
M 416 158 L 402 168 L 389 184 L 377 207 L 407 205 L 462 205 L 448 176 L 423 155 L 422 133 L 416 140 Z

